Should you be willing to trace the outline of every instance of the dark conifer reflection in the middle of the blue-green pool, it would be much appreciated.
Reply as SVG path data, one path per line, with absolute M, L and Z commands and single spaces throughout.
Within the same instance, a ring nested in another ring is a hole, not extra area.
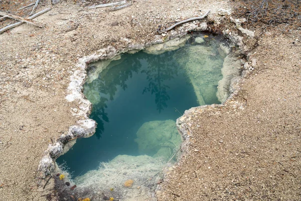
M 146 79 L 149 81 L 148 87 L 145 87 L 142 93 L 155 93 L 155 102 L 157 110 L 161 113 L 164 108 L 167 108 L 167 100 L 170 96 L 167 93 L 169 86 L 164 83 L 165 80 L 171 80 L 174 74 L 178 74 L 178 64 L 173 59 L 174 52 L 165 52 L 159 55 L 145 55 L 145 60 L 148 63 L 147 69 L 142 70 L 146 74 Z

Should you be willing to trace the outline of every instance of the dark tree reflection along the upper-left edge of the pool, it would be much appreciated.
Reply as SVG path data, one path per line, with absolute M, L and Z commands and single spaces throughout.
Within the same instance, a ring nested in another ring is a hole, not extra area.
M 112 61 L 109 66 L 104 69 L 99 78 L 92 81 L 89 85 L 99 93 L 100 101 L 93 105 L 93 110 L 90 118 L 97 122 L 95 135 L 99 139 L 104 132 L 104 122 L 109 122 L 108 114 L 105 112 L 107 108 L 106 102 L 108 99 L 113 100 L 117 91 L 117 86 L 121 86 L 123 90 L 127 88 L 125 84 L 129 77 L 132 77 L 133 72 L 138 72 L 141 68 L 140 61 L 132 55 L 126 56 L 122 61 L 122 67 L 118 64 L 120 60 Z

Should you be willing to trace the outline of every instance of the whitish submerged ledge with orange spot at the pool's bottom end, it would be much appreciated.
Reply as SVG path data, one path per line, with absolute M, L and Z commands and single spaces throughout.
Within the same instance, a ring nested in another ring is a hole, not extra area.
M 95 200 L 102 200 L 103 195 L 94 192 L 127 201 L 154 200 L 151 192 L 156 188 L 160 179 L 158 173 L 163 166 L 160 158 L 118 155 L 109 162 L 100 163 L 97 169 L 75 177 L 76 191 L 84 196 L 93 196 Z

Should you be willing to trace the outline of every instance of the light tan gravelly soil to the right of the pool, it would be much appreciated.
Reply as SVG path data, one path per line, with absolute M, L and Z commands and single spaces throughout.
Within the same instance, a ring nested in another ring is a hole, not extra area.
M 279 28 L 280 29 L 280 28 Z M 159 200 L 300 200 L 300 39 L 267 33 L 254 72 L 223 107 L 196 109 L 188 152 Z M 188 123 L 189 124 L 189 123 Z

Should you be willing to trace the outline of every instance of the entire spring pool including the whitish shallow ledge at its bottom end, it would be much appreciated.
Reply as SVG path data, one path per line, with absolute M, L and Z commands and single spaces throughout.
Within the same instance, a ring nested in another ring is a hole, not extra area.
M 58 164 L 81 187 L 126 197 L 123 183 L 131 179 L 140 192 L 128 197 L 149 196 L 146 188 L 177 160 L 182 139 L 176 119 L 192 107 L 220 103 L 227 55 L 220 44 L 213 36 L 189 36 L 91 64 L 84 94 L 96 133 L 78 139 Z

